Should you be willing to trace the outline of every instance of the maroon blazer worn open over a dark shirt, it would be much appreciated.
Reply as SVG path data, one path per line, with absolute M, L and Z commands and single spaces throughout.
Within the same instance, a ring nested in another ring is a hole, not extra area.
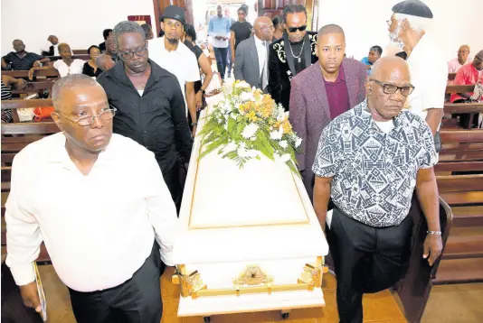
M 365 65 L 358 60 L 342 61 L 346 76 L 349 106 L 357 106 L 365 99 Z M 317 153 L 322 130 L 331 121 L 324 77 L 318 63 L 313 64 L 292 78 L 289 121 L 293 130 L 302 138 L 302 153 L 297 155 L 298 169 L 312 198 L 315 180 L 312 165 Z

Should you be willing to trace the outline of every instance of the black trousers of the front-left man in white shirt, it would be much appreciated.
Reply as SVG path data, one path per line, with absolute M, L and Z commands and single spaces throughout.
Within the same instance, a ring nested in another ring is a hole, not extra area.
M 69 289 L 78 323 L 159 323 L 163 313 L 159 277 L 164 264 L 157 243 L 133 277 L 104 291 Z

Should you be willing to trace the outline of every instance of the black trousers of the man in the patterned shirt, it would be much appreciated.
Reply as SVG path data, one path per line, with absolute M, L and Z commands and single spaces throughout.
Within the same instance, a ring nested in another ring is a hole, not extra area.
M 362 323 L 363 294 L 384 291 L 406 272 L 411 235 L 411 217 L 399 226 L 373 227 L 334 208 L 327 240 L 336 267 L 341 323 Z

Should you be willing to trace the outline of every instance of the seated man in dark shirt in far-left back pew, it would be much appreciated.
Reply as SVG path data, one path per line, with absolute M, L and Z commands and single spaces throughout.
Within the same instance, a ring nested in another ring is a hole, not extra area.
M 50 61 L 34 52 L 25 51 L 24 42 L 14 40 L 14 50 L 2 58 L 2 69 L 29 70 L 40 67 L 40 63 Z

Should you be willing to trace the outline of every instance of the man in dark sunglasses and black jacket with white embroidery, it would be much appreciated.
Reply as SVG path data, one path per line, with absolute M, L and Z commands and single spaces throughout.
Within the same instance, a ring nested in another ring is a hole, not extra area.
M 317 32 L 307 31 L 307 9 L 288 5 L 283 9 L 285 32 L 269 48 L 269 88 L 273 99 L 289 110 L 290 81 L 317 58 Z

